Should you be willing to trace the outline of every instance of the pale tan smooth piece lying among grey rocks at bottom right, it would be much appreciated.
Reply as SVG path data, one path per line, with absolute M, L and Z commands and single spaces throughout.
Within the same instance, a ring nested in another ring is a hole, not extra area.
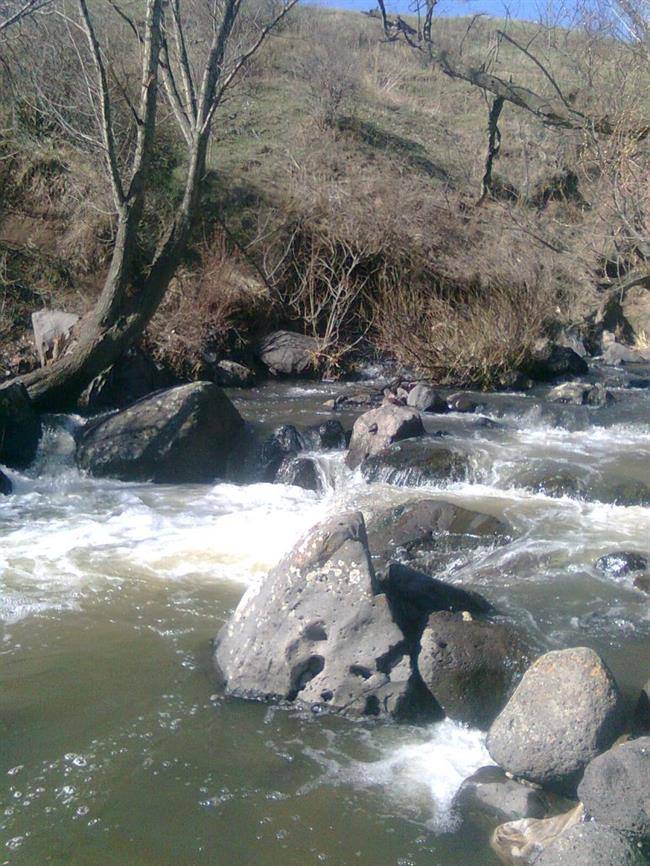
M 571 827 L 578 825 L 583 818 L 584 809 L 580 803 L 573 809 L 551 818 L 522 818 L 518 821 L 508 821 L 496 828 L 490 839 L 490 847 L 502 863 L 508 866 L 528 866 L 537 862 L 537 857 L 547 845 Z M 578 866 L 578 863 L 572 866 Z

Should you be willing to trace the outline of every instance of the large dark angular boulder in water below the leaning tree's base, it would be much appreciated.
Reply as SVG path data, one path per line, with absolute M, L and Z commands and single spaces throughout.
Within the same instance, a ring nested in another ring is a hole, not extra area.
M 219 387 L 194 382 L 90 423 L 77 442 L 77 463 L 125 481 L 212 481 L 225 472 L 243 429 Z

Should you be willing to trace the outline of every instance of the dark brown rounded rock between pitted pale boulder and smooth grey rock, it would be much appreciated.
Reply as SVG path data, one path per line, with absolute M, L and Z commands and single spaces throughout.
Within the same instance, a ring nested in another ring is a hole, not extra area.
M 509 625 L 441 611 L 420 640 L 420 676 L 454 721 L 487 728 L 530 663 L 530 650 Z

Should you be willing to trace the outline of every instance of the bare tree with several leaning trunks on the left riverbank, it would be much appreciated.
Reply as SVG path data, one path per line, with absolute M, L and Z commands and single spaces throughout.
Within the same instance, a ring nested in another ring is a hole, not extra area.
M 130 18 L 114 0 L 108 2 L 139 45 L 139 95 L 131 100 L 125 87 L 116 87 L 96 17 L 87 0 L 76 0 L 74 16 L 61 14 L 84 37 L 85 49 L 82 54 L 79 47 L 78 52 L 97 118 L 97 148 L 110 179 L 116 231 L 101 295 L 78 326 L 76 341 L 53 364 L 22 377 L 42 408 L 73 402 L 150 321 L 190 239 L 215 113 L 241 70 L 297 0 L 281 0 L 271 8 L 254 6 L 253 0 L 248 6 L 246 0 L 206 0 L 206 5 L 194 6 L 189 12 L 182 0 L 147 0 L 142 23 Z M 162 91 L 184 141 L 185 177 L 182 195 L 160 242 L 145 255 L 148 239 L 143 236 L 143 214 L 147 193 L 155 183 L 151 169 Z M 127 102 L 134 119 L 134 141 L 126 157 L 115 120 L 116 92 Z

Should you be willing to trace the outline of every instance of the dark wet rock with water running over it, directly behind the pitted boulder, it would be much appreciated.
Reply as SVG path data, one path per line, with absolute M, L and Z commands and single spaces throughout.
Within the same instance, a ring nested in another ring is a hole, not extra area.
M 368 524 L 373 562 L 382 576 L 391 561 L 438 570 L 462 551 L 505 544 L 511 534 L 511 527 L 496 517 L 436 499 L 411 499 L 385 508 Z

